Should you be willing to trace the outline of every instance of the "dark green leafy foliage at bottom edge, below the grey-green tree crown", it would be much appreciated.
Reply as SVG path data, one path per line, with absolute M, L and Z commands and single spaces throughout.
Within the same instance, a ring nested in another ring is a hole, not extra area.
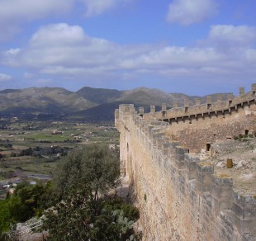
M 126 209 L 116 209 L 119 206 Z M 64 199 L 45 211 L 44 229 L 49 229 L 50 240 L 133 240 L 132 226 L 138 215 L 126 216 L 135 209 L 128 206 L 121 200 L 95 200 L 91 186 L 80 183 L 69 187 Z

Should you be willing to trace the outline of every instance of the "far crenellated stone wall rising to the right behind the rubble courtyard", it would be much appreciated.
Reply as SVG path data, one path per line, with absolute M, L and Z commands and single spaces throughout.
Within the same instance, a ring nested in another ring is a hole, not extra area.
M 238 97 L 230 94 L 228 100 L 211 102 L 211 96 L 206 98 L 205 104 L 197 101 L 195 106 L 188 106 L 184 101 L 183 107 L 174 107 L 170 110 L 162 106 L 162 111 L 155 112 L 154 106 L 150 113 L 143 113 L 145 120 L 157 119 L 168 122 L 169 135 L 178 140 L 192 153 L 199 153 L 206 149 L 207 144 L 217 140 L 233 139 L 238 135 L 252 135 L 256 132 L 256 85 L 251 91 L 244 93 L 240 89 Z M 143 112 L 143 111 L 142 111 Z

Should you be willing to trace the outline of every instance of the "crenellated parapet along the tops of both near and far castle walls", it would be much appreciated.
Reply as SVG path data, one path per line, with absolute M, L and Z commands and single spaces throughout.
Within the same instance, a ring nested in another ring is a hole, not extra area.
M 255 91 L 256 84 L 252 85 L 251 91 L 247 93 L 240 88 L 238 97 L 230 94 L 225 102 L 220 97 L 217 102 L 212 102 L 211 97 L 207 97 L 206 104 L 203 105 L 198 101 L 195 106 L 189 106 L 184 102 L 183 107 L 178 107 L 176 102 L 174 104 L 177 106 L 173 109 L 167 110 L 166 105 L 163 105 L 162 110 L 158 112 L 155 112 L 155 106 L 151 106 L 150 114 L 145 114 L 142 108 L 136 113 L 133 105 L 121 105 L 115 112 L 119 125 L 129 124 L 127 125 L 129 137 L 126 141 L 132 137 L 130 141 L 136 140 L 136 143 L 142 144 L 146 149 L 145 153 L 152 158 L 150 162 L 154 163 L 154 168 L 158 168 L 156 172 L 167 172 L 172 180 L 178 177 L 179 183 L 176 184 L 181 186 L 180 190 L 185 192 L 184 196 L 189 196 L 188 192 L 194 191 L 197 193 L 197 201 L 199 200 L 200 204 L 201 200 L 206 201 L 211 212 L 217 215 L 219 220 L 223 220 L 223 213 L 228 212 L 232 227 L 238 230 L 241 236 L 254 238 L 256 238 L 256 196 L 239 193 L 233 187 L 232 178 L 218 175 L 210 161 L 201 161 L 197 155 L 189 153 L 181 143 L 173 140 L 166 131 L 169 123 L 164 122 L 163 119 L 170 120 L 181 116 L 201 115 L 201 113 L 208 115 L 211 111 L 213 113 L 237 111 L 239 107 L 255 104 Z M 140 162 L 138 155 L 134 156 L 136 157 L 134 162 Z

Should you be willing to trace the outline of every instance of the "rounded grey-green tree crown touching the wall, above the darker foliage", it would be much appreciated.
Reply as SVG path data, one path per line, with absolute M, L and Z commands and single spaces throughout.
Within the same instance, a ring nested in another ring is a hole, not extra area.
M 119 176 L 119 157 L 114 150 L 101 146 L 88 146 L 75 149 L 56 168 L 54 187 L 59 196 L 78 183 L 89 183 L 98 199 L 98 194 L 106 194 L 115 187 Z

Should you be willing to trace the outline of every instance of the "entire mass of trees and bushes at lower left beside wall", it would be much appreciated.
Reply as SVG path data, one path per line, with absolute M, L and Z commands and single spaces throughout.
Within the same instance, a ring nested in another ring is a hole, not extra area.
M 139 210 L 109 195 L 119 170 L 115 150 L 99 146 L 74 149 L 59 161 L 52 182 L 21 183 L 0 201 L 0 233 L 10 224 L 44 214 L 48 240 L 137 240 L 133 224 Z M 5 234 L 1 240 L 12 240 L 4 238 Z

